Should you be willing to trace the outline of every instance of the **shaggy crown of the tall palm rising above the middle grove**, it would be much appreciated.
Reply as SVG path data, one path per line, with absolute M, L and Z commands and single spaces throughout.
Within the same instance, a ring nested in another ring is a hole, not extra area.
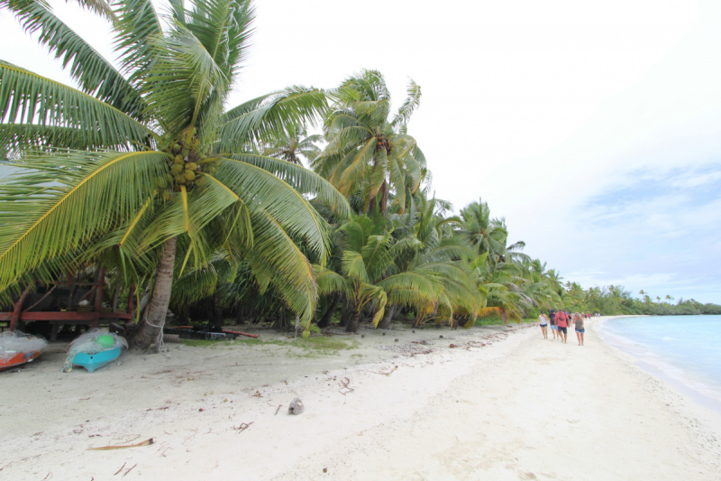
M 386 214 L 390 189 L 403 212 L 406 190 L 414 193 L 426 173 L 423 153 L 406 134 L 421 88 L 411 80 L 407 94 L 390 118 L 390 93 L 378 71 L 363 70 L 333 92 L 335 110 L 325 124 L 328 144 L 313 167 L 342 194 L 360 192 L 369 213 L 378 205 Z

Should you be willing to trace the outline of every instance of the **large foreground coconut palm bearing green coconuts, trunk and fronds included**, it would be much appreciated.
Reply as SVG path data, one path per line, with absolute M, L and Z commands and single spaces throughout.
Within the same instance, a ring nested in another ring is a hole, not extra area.
M 178 245 L 183 265 L 198 267 L 230 243 L 259 283 L 274 283 L 309 322 L 314 273 L 294 241 L 324 259 L 328 240 L 301 194 L 350 213 L 315 173 L 248 153 L 251 141 L 314 121 L 323 92 L 287 88 L 225 110 L 246 55 L 251 1 L 183 5 L 170 2 L 168 17 L 151 0 L 104 11 L 116 32 L 115 69 L 44 2 L 0 1 L 78 82 L 70 88 L 0 60 L 0 132 L 17 153 L 36 151 L 23 153 L 20 173 L 0 185 L 0 290 L 49 259 L 60 270 L 86 251 L 135 258 L 160 250 L 137 347 L 163 325 Z

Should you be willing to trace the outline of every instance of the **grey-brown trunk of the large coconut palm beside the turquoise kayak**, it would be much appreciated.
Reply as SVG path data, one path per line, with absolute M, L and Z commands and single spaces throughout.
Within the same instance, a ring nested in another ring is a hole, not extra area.
M 175 266 L 175 251 L 177 237 L 170 237 L 165 241 L 163 254 L 160 255 L 158 273 L 155 274 L 155 286 L 152 290 L 151 302 L 147 314 L 143 316 L 132 335 L 132 346 L 145 350 L 158 338 L 170 303 L 170 290 L 173 287 L 173 267 Z

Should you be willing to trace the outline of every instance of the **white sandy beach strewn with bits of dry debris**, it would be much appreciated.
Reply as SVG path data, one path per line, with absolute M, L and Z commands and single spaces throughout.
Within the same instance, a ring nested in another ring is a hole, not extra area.
M 0 478 L 718 479 L 721 416 L 593 323 L 585 347 L 535 327 L 361 329 L 325 350 L 262 331 L 92 375 L 60 373 L 54 345 L 0 373 Z

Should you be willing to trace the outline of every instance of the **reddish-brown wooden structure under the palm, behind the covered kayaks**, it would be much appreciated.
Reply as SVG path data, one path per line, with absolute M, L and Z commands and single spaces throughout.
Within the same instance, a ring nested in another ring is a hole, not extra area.
M 60 285 L 60 283 L 56 283 L 55 286 L 50 289 L 50 291 L 45 293 L 45 295 L 41 298 L 40 301 L 35 302 L 34 304 L 32 304 L 32 306 L 23 310 L 23 304 L 25 304 L 28 295 L 32 291 L 32 285 L 29 285 L 23 290 L 20 298 L 15 301 L 14 309 L 12 312 L 0 312 L 0 323 L 8 323 L 7 328 L 9 328 L 9 330 L 11 331 L 14 331 L 16 328 L 18 328 L 18 326 L 23 326 L 27 322 L 38 320 L 50 322 L 50 324 L 52 325 L 50 340 L 55 340 L 58 338 L 59 327 L 65 324 L 85 324 L 89 325 L 91 328 L 97 328 L 98 326 L 100 326 L 101 323 L 103 323 L 114 326 L 114 328 L 118 328 L 118 330 L 124 331 L 124 328 L 120 324 L 125 324 L 127 320 L 132 319 L 132 299 L 134 289 L 131 289 L 130 294 L 128 295 L 128 307 L 125 312 L 116 311 L 115 309 L 117 305 L 117 291 L 114 295 L 113 308 L 110 311 L 107 311 L 105 310 L 107 308 L 103 308 L 102 304 L 103 287 L 105 286 L 105 269 L 102 267 L 99 269 L 96 282 L 84 282 L 75 285 L 80 284 L 92 286 L 90 291 L 87 292 L 86 297 L 90 293 L 92 293 L 92 291 L 95 291 L 96 293 L 93 306 L 90 309 L 66 311 L 32 311 L 32 308 L 34 308 L 42 301 L 44 301 L 47 297 L 49 297 L 52 291 L 55 291 L 55 289 Z

